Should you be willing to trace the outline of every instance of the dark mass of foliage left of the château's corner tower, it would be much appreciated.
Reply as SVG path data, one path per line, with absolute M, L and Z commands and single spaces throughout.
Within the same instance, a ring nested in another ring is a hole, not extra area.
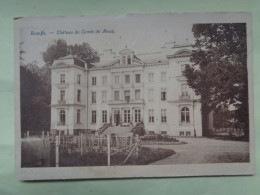
M 25 66 L 20 66 L 20 75 L 22 135 L 27 130 L 31 134 L 49 130 L 50 99 L 46 96 L 44 81 Z

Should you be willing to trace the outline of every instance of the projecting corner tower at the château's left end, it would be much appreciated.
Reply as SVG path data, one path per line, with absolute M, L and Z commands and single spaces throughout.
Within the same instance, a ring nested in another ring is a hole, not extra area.
M 87 129 L 86 64 L 73 55 L 54 61 L 51 70 L 51 131 L 75 134 Z

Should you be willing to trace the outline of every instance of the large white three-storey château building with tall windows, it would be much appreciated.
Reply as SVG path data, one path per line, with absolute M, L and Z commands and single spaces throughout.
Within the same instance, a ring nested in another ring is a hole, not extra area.
M 202 136 L 200 97 L 182 73 L 190 54 L 189 45 L 166 44 L 154 53 L 105 50 L 88 65 L 72 55 L 54 61 L 51 130 L 74 134 L 143 122 L 146 133 Z

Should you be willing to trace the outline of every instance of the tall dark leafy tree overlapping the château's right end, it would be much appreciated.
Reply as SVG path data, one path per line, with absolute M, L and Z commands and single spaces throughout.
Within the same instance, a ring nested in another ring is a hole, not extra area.
M 195 24 L 191 54 L 186 66 L 188 85 L 201 96 L 203 134 L 208 113 L 218 106 L 235 108 L 234 117 L 249 133 L 246 24 Z

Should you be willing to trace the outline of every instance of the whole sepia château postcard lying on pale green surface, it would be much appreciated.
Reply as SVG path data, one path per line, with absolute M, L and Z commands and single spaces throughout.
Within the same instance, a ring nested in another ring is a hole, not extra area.
M 249 13 L 15 19 L 20 180 L 254 174 Z

